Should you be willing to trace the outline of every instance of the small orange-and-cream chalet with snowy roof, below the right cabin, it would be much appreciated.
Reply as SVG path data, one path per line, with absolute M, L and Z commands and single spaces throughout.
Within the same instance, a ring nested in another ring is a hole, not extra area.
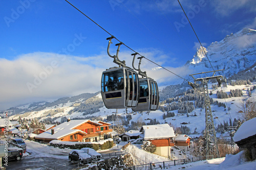
M 155 154 L 170 158 L 171 148 L 174 147 L 174 130 L 168 124 L 145 125 L 140 129 L 140 136 L 156 145 Z

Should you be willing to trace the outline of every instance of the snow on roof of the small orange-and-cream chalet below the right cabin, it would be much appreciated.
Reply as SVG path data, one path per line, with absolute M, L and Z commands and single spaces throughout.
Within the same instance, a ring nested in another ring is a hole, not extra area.
M 175 137 L 174 129 L 168 124 L 145 125 L 142 126 L 142 129 L 144 130 L 145 140 Z M 142 132 L 141 130 L 140 132 Z

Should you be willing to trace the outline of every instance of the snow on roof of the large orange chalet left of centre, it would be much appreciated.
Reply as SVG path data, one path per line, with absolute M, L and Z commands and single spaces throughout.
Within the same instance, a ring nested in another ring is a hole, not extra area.
M 70 120 L 70 122 L 62 123 L 56 127 L 54 127 L 54 134 L 52 135 L 52 129 L 49 129 L 48 131 L 41 133 L 36 136 L 36 138 L 46 138 L 46 139 L 59 139 L 63 136 L 76 133 L 76 132 L 82 132 L 84 134 L 87 134 L 86 132 L 83 132 L 81 130 L 74 129 L 75 127 L 86 123 L 90 121 L 89 119 L 86 120 Z

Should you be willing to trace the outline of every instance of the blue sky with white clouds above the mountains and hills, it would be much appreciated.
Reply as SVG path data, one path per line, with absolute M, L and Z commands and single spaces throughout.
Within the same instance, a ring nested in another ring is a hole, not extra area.
M 182 77 L 190 74 L 183 65 L 199 43 L 178 1 L 69 2 L 146 58 Z M 205 47 L 245 27 L 256 29 L 253 0 L 180 3 Z M 0 110 L 97 92 L 101 72 L 116 66 L 106 54 L 109 34 L 64 0 L 1 1 L 0 10 Z M 111 51 L 115 53 L 114 45 Z M 132 66 L 132 53 L 122 45 L 119 58 Z M 179 79 L 162 69 L 153 71 L 154 67 L 142 61 L 142 70 L 159 82 Z

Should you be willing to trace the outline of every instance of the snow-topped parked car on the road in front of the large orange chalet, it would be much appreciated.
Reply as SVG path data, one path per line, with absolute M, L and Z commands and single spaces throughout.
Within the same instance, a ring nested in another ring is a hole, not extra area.
M 72 150 L 69 153 L 69 161 L 79 161 L 79 163 L 92 163 L 91 155 L 82 150 Z

